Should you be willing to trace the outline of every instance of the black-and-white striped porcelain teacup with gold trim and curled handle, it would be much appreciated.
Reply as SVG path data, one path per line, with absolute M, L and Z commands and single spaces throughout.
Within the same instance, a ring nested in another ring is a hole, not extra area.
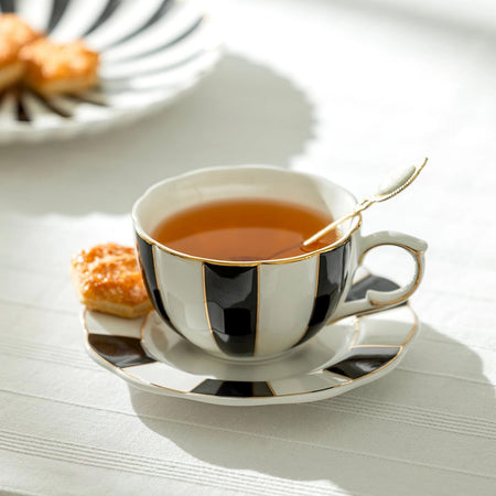
M 406 301 L 421 281 L 425 241 L 391 231 L 364 237 L 359 215 L 341 226 L 333 245 L 278 260 L 207 259 L 153 239 L 160 222 L 179 211 L 239 197 L 291 201 L 334 218 L 356 204 L 352 193 L 323 177 L 262 165 L 202 169 L 151 186 L 132 208 L 145 285 L 162 320 L 206 353 L 240 360 L 274 357 L 332 322 Z M 381 245 L 401 247 L 413 258 L 411 281 L 346 301 L 364 255 Z

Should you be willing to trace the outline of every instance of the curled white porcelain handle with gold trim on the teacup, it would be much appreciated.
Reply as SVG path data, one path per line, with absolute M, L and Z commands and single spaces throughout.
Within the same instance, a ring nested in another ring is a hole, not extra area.
M 407 252 L 413 258 L 416 262 L 416 269 L 411 281 L 396 290 L 392 291 L 376 291 L 368 290 L 367 294 L 362 300 L 347 301 L 342 303 L 337 311 L 332 315 L 331 322 L 338 321 L 341 319 L 357 315 L 362 313 L 376 312 L 378 310 L 384 310 L 388 306 L 395 306 L 406 300 L 408 300 L 411 294 L 416 291 L 423 276 L 423 265 L 424 258 L 423 254 L 428 248 L 428 245 L 422 239 L 409 236 L 402 233 L 393 233 L 389 230 L 384 230 L 380 233 L 375 233 L 369 236 L 358 238 L 358 263 L 365 254 L 373 248 L 384 245 L 392 245 L 407 250 Z M 356 269 L 355 269 L 356 270 Z

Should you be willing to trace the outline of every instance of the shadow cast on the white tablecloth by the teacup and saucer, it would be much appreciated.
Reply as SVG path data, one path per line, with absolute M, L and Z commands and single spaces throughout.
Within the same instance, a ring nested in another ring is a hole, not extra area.
M 402 479 L 403 487 L 431 494 L 428 486 L 435 476 L 431 473 L 427 482 L 422 467 L 401 460 L 450 468 L 467 459 L 464 470 L 484 472 L 484 464 L 471 457 L 465 444 L 453 442 L 453 433 L 462 439 L 463 434 L 485 435 L 492 422 L 475 417 L 489 419 L 495 408 L 494 390 L 478 356 L 428 325 L 422 326 L 421 337 L 397 370 L 324 401 L 236 408 L 168 398 L 133 387 L 130 393 L 134 411 L 148 428 L 218 468 L 217 484 L 229 477 L 223 470 L 236 468 L 291 481 L 295 492 L 299 482 L 324 479 L 353 493 L 368 494 L 367 481 L 374 481 L 377 494 L 405 494 L 395 487 Z M 477 405 L 479 411 L 472 412 L 470 405 Z M 474 425 L 467 411 L 474 416 Z M 454 412 L 461 413 L 452 417 Z M 490 467 L 487 471 L 490 473 Z M 449 473 L 436 474 L 443 477 L 446 494 L 451 485 L 460 484 L 460 479 L 446 477 Z M 270 479 L 267 484 L 267 494 L 271 494 Z M 464 487 L 452 489 L 470 494 L 468 488 L 467 493 Z M 308 490 L 305 487 L 305 494 Z

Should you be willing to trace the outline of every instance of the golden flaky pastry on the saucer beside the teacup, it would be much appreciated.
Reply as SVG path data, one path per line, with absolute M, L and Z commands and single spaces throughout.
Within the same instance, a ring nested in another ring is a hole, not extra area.
M 109 242 L 80 250 L 71 269 L 79 300 L 89 310 L 128 319 L 152 310 L 134 248 Z

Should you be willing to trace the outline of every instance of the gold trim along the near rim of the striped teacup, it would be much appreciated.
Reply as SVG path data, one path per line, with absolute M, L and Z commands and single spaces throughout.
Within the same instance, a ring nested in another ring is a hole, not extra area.
M 349 230 L 349 233 L 338 239 L 337 241 L 333 242 L 332 245 L 328 245 L 324 248 L 321 248 L 319 250 L 312 251 L 311 254 L 306 255 L 299 255 L 298 257 L 291 257 L 291 258 L 280 258 L 276 260 L 252 260 L 252 261 L 242 261 L 242 260 L 217 260 L 215 258 L 203 258 L 203 257 L 195 257 L 194 255 L 187 255 L 183 254 L 181 251 L 176 251 L 172 248 L 166 247 L 165 245 L 160 244 L 159 241 L 155 241 L 150 236 L 148 236 L 145 233 L 143 233 L 141 229 L 136 226 L 136 234 L 139 236 L 143 241 L 148 242 L 149 245 L 155 246 L 161 251 L 166 251 L 168 254 L 171 254 L 175 257 L 185 258 L 187 260 L 196 260 L 201 262 L 207 262 L 215 266 L 236 266 L 236 267 L 257 267 L 262 265 L 280 265 L 280 263 L 291 263 L 300 260 L 306 260 L 308 258 L 312 258 L 315 255 L 324 254 L 327 251 L 332 251 L 335 248 L 338 248 L 339 246 L 345 245 L 348 239 L 352 237 L 352 235 L 362 225 L 362 215 L 356 216 L 356 224 L 353 226 L 353 228 Z

